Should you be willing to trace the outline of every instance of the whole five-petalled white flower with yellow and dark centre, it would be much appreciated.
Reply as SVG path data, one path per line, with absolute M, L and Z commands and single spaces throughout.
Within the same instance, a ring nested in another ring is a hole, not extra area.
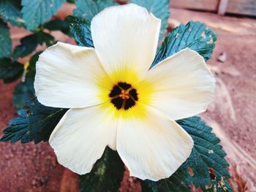
M 175 120 L 204 112 L 215 81 L 188 48 L 149 69 L 160 23 L 135 4 L 109 7 L 91 21 L 95 49 L 59 42 L 39 56 L 37 99 L 70 108 L 49 140 L 60 164 L 86 174 L 109 146 L 131 176 L 160 180 L 189 157 Z

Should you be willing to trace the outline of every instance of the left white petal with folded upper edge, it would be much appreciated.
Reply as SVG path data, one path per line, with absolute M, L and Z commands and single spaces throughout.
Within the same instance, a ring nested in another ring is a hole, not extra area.
M 89 107 L 102 103 L 97 81 L 105 72 L 93 48 L 58 42 L 37 61 L 37 99 L 50 107 Z

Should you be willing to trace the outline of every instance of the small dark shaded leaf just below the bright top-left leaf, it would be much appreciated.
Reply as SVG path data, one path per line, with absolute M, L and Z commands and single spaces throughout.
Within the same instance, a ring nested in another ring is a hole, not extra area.
M 48 23 L 45 23 L 43 27 L 50 31 L 61 31 L 69 35 L 69 24 L 65 20 L 50 20 Z

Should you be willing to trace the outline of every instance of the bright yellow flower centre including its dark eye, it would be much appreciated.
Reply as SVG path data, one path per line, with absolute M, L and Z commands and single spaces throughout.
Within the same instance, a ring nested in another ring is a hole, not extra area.
M 102 110 L 113 118 L 146 117 L 146 106 L 154 101 L 155 87 L 140 80 L 132 69 L 118 69 L 108 75 L 98 74 L 97 86 Z

